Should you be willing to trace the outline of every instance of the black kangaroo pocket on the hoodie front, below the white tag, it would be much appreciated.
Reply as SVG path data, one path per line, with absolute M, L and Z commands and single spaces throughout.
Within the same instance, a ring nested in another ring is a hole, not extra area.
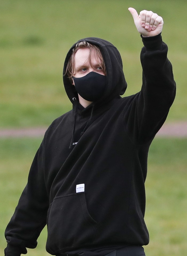
M 92 243 L 96 229 L 97 222 L 87 210 L 85 192 L 58 196 L 50 208 L 46 249 L 56 252 Z

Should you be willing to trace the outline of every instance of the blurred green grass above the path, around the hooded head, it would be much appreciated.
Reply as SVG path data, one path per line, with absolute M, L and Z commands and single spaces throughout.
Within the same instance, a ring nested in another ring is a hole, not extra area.
M 164 18 L 162 36 L 178 85 L 168 120 L 186 120 L 186 1 L 0 0 L 0 127 L 47 126 L 71 108 L 62 67 L 70 46 L 83 37 L 116 45 L 128 82 L 126 95 L 140 90 L 142 42 L 130 6 Z

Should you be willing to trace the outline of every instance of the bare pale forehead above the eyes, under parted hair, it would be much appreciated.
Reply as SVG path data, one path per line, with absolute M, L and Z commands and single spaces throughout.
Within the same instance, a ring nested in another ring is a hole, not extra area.
M 80 66 L 86 64 L 87 62 L 91 64 L 94 64 L 96 62 L 101 63 L 101 58 L 96 50 L 90 50 L 90 48 L 81 48 L 78 49 L 75 53 L 74 61 L 75 66 Z

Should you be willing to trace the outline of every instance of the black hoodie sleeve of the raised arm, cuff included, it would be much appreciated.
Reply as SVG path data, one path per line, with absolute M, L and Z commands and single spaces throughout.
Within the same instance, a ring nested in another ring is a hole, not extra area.
M 148 143 L 154 138 L 166 120 L 176 93 L 172 65 L 167 58 L 168 47 L 162 42 L 161 34 L 142 37 L 142 41 L 143 83 L 141 91 L 131 102 L 127 128 L 138 144 Z

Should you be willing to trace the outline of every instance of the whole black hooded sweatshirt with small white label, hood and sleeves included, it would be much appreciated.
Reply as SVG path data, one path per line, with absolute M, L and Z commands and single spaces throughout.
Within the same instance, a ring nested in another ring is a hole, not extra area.
M 105 93 L 83 108 L 63 76 L 73 109 L 53 121 L 35 155 L 5 231 L 7 256 L 35 248 L 46 224 L 46 250 L 52 255 L 149 242 L 144 222 L 148 150 L 175 97 L 168 48 L 160 34 L 142 38 L 142 87 L 122 98 L 127 84 L 116 47 L 99 38 L 80 41 L 101 50 Z

